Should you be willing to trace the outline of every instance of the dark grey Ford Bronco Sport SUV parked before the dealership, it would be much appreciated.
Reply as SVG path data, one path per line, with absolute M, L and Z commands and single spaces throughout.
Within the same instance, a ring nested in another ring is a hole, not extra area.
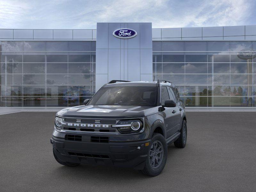
M 62 165 L 133 167 L 156 176 L 167 145 L 184 148 L 186 140 L 185 106 L 174 84 L 113 80 L 84 105 L 57 112 L 51 144 Z

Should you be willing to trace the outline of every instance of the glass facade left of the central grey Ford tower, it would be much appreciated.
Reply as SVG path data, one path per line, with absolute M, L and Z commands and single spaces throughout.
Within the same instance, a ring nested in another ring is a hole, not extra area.
M 95 41 L 1 41 L 1 107 L 77 106 L 95 93 Z

